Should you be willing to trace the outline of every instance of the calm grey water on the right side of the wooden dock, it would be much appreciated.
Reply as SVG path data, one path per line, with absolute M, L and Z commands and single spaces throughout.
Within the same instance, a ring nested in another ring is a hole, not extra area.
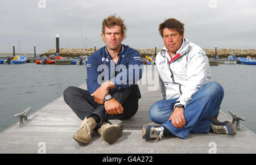
M 255 65 L 218 65 L 211 66 L 212 80 L 224 88 L 221 111 L 230 116 L 233 111 L 245 117 L 241 124 L 256 133 L 256 66 Z

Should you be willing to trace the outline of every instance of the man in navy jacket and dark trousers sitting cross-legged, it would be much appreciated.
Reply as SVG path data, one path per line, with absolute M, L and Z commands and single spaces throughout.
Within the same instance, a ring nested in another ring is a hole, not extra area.
M 122 135 L 121 124 L 109 119 L 129 119 L 138 110 L 141 98 L 138 84 L 142 77 L 141 54 L 122 44 L 126 26 L 111 15 L 102 22 L 102 39 L 106 46 L 93 53 L 87 62 L 87 87 L 68 87 L 64 100 L 83 120 L 73 139 L 84 145 L 90 142 L 92 130 L 97 130 L 108 143 Z

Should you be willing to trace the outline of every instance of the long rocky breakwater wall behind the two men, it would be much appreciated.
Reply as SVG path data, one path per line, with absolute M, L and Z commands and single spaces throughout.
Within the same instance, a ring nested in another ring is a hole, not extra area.
M 152 54 L 158 53 L 161 49 L 157 48 L 155 52 L 155 48 L 152 49 L 136 49 L 141 54 L 142 57 L 151 56 Z M 60 48 L 60 56 L 63 57 L 77 57 L 77 56 L 90 56 L 90 54 L 94 53 L 95 50 L 93 48 L 83 49 L 83 48 Z M 207 53 L 208 57 L 214 57 L 215 49 L 204 49 L 205 53 Z M 46 53 L 40 54 L 40 56 L 49 56 L 50 54 L 56 54 L 56 49 L 50 49 Z M 256 49 L 217 49 L 217 56 L 220 58 L 225 58 L 228 56 L 233 56 L 236 54 L 237 57 L 256 57 Z

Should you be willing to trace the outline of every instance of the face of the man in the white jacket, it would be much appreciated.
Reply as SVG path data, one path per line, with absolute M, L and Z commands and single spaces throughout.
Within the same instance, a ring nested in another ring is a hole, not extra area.
M 164 46 L 166 46 L 171 53 L 176 54 L 177 50 L 180 49 L 183 37 L 184 34 L 180 35 L 175 29 L 164 28 L 163 30 Z

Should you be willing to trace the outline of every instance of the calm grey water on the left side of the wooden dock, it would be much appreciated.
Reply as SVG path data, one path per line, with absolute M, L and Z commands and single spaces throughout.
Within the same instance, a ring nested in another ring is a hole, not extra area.
M 85 82 L 85 65 L 0 65 L 0 131 L 18 122 L 16 113 L 34 112 Z

